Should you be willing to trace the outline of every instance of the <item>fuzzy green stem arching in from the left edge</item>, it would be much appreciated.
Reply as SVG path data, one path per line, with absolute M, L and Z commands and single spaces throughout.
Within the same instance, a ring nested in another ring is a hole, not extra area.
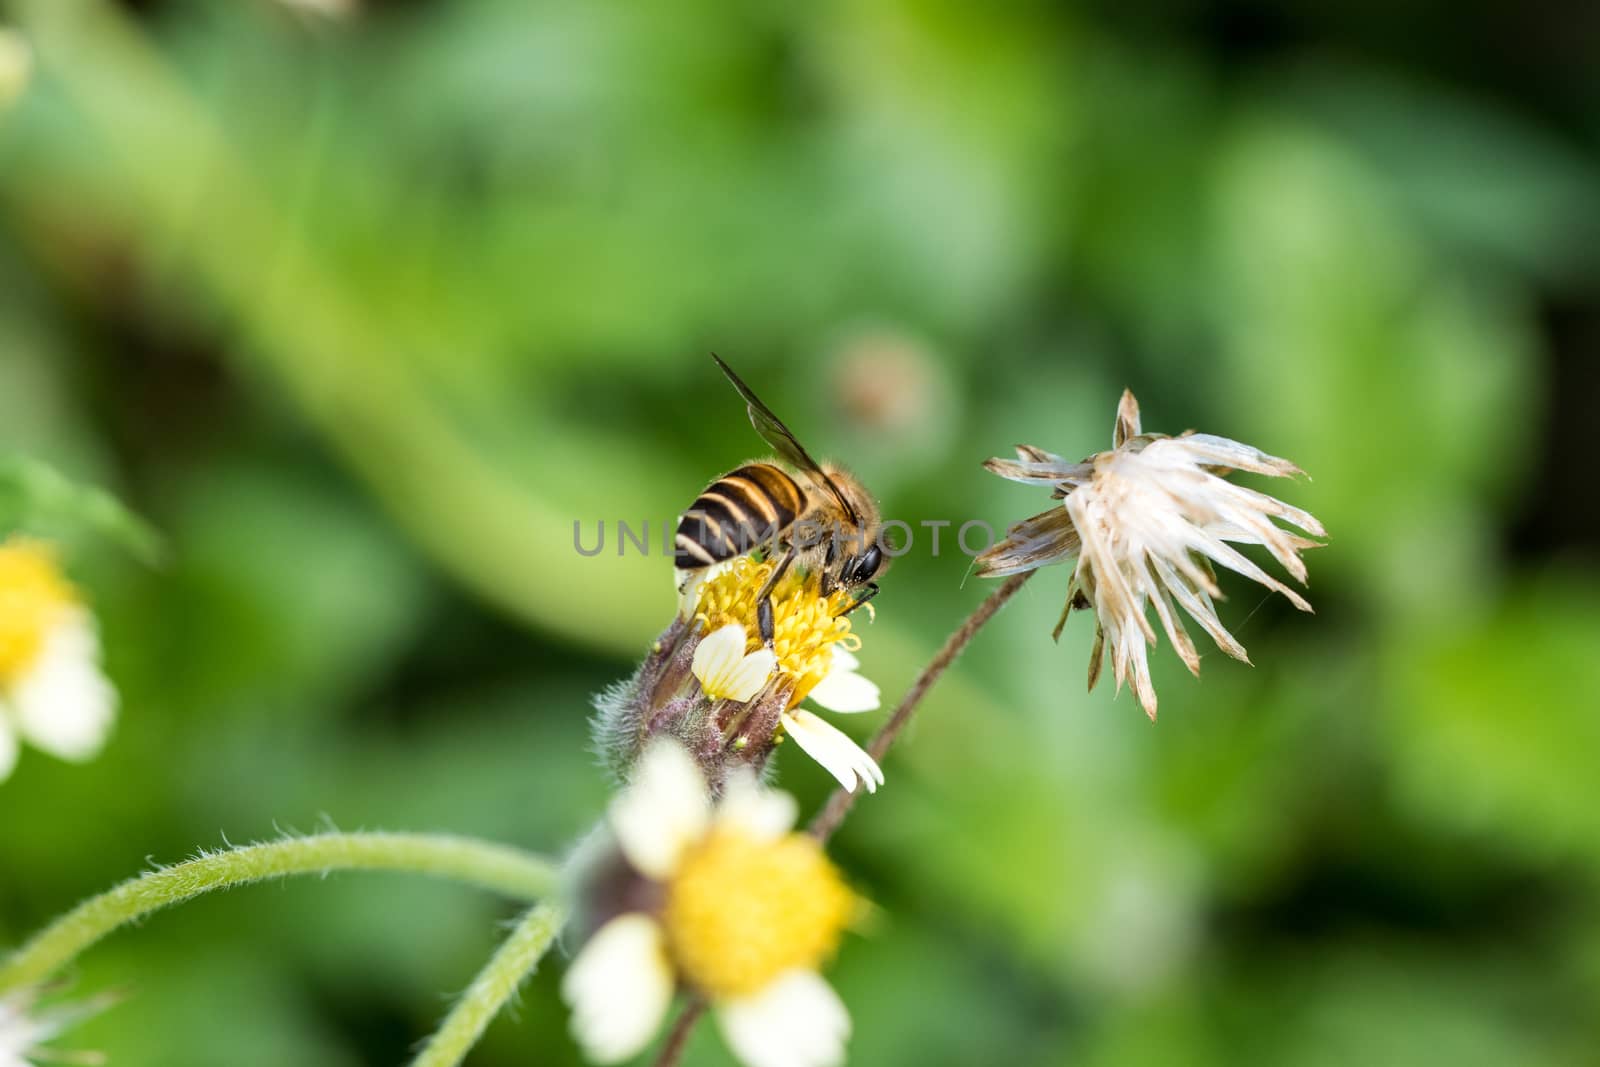
M 522 849 L 443 833 L 314 833 L 245 845 L 162 867 L 78 904 L 0 961 L 0 993 L 40 982 L 123 923 L 211 889 L 331 870 L 408 870 L 526 901 L 549 894 L 555 867 Z

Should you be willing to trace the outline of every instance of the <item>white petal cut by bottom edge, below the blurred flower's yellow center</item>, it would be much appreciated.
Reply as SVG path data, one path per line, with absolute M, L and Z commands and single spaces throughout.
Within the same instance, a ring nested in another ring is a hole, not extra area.
M 717 1005 L 717 1025 L 746 1067 L 837 1067 L 850 1013 L 814 971 L 790 971 L 766 989 Z

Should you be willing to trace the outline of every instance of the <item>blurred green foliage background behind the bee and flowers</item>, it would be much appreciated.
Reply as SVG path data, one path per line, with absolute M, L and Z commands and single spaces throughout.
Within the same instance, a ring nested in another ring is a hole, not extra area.
M 1315 616 L 1224 582 L 1254 669 L 1163 643 L 1157 726 L 1050 643 L 1066 569 L 982 633 L 835 838 L 853 1062 L 1600 1064 L 1592 5 L 309 6 L 0 6 L 0 448 L 168 539 L 70 542 L 123 713 L 0 785 L 0 944 L 224 835 L 565 848 L 672 611 L 571 526 L 762 451 L 715 349 L 912 523 L 1040 510 L 979 461 L 1131 386 L 1331 531 Z M 925 545 L 888 697 L 987 592 Z M 69 1045 L 395 1064 L 509 913 L 203 899 L 82 961 L 131 1001 Z M 579 1062 L 560 971 L 470 1062 Z

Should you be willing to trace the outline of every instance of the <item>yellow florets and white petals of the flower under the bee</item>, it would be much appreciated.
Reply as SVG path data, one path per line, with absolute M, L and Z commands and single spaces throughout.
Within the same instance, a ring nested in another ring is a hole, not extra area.
M 773 563 L 741 557 L 698 582 L 691 625 L 706 637 L 694 649 L 694 677 L 714 699 L 730 678 L 744 686 L 746 696 L 736 701 L 755 701 L 766 689 L 784 736 L 794 737 L 845 789 L 864 785 L 875 792 L 883 784 L 877 760 L 842 729 L 800 707 L 810 697 L 838 713 L 878 709 L 878 686 L 858 670 L 861 661 L 851 651 L 861 638 L 843 614 L 850 593 L 834 590 L 824 597 L 814 576 L 786 576 L 771 593 L 773 646 L 765 648 L 755 605 L 771 571 Z M 707 646 L 715 648 L 706 653 Z M 762 685 L 755 685 L 762 670 Z

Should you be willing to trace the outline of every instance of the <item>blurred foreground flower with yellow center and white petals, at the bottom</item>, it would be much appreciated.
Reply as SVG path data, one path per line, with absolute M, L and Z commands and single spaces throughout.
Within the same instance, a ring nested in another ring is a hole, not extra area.
M 610 917 L 562 982 L 590 1059 L 642 1051 L 685 987 L 710 1001 L 747 1067 L 843 1062 L 850 1014 L 818 968 L 861 901 L 794 819 L 794 798 L 749 769 L 714 806 L 677 742 L 645 752 L 608 824 L 648 891 L 624 894 L 643 904 Z

